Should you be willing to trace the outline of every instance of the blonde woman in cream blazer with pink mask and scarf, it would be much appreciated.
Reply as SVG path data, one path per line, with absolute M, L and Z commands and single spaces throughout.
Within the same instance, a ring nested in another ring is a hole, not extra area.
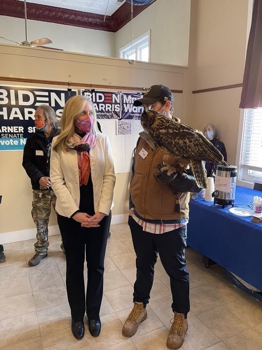
M 84 314 L 89 332 L 100 334 L 104 257 L 115 172 L 109 140 L 97 128 L 93 103 L 71 97 L 61 117 L 61 133 L 53 139 L 50 178 L 57 196 L 55 209 L 66 252 L 66 287 L 71 330 L 84 337 Z M 84 262 L 87 262 L 87 290 Z

